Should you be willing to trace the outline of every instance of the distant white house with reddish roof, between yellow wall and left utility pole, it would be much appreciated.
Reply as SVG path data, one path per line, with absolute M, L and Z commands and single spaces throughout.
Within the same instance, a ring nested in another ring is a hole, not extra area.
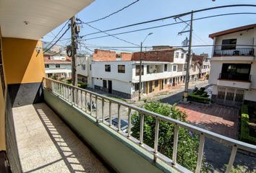
M 44 55 L 46 77 L 71 78 L 71 58 L 68 56 Z

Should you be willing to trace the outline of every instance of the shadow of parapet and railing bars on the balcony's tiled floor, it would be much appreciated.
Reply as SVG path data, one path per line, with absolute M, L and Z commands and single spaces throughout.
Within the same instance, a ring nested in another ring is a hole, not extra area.
M 86 147 L 85 144 L 77 138 L 77 136 L 74 135 L 72 130 L 70 130 L 67 125 L 61 121 L 53 110 L 44 103 L 35 104 L 33 107 L 61 158 L 28 172 L 43 169 L 58 161 L 64 161 L 67 169 L 72 173 L 108 172 L 93 152 L 90 151 L 90 149 Z M 59 171 L 61 172 L 61 169 Z

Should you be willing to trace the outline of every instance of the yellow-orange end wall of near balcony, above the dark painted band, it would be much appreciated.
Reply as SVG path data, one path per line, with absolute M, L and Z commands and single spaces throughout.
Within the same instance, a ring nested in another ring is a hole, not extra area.
M 41 41 L 3 37 L 2 43 L 7 84 L 43 80 L 45 69 Z M 39 53 L 36 48 L 40 48 Z

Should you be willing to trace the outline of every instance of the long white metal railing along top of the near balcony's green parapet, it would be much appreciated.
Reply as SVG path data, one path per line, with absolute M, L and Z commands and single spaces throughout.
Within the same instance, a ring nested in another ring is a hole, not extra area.
M 65 84 L 60 81 L 55 81 L 53 79 L 44 79 L 44 87 L 48 90 L 51 90 L 54 94 L 56 94 L 58 97 L 61 97 L 62 99 L 65 99 L 67 102 L 71 103 L 73 106 L 76 106 L 80 108 L 80 110 L 88 113 L 88 115 L 95 117 L 95 120 L 97 123 L 104 123 L 109 126 L 109 128 L 113 128 L 118 133 L 120 133 L 122 136 L 127 137 L 130 141 L 137 143 L 137 145 L 144 148 L 146 151 L 150 152 L 150 154 L 153 154 L 154 161 L 156 159 L 161 159 L 161 161 L 166 162 L 171 167 L 174 167 L 174 169 L 177 169 L 179 172 L 191 172 L 188 169 L 182 167 L 182 165 L 177 163 L 177 147 L 178 147 L 178 140 L 179 140 L 179 127 L 186 128 L 187 130 L 190 130 L 194 133 L 197 133 L 200 136 L 200 145 L 198 149 L 197 154 L 197 167 L 195 169 L 195 172 L 200 172 L 201 164 L 202 164 L 202 158 L 203 158 L 203 150 L 204 150 L 204 144 L 205 144 L 205 138 L 211 138 L 215 141 L 218 141 L 219 143 L 226 144 L 228 146 L 232 147 L 231 150 L 231 156 L 229 157 L 229 164 L 226 169 L 226 172 L 231 171 L 231 167 L 234 163 L 234 159 L 236 156 L 237 149 L 242 149 L 244 151 L 249 151 L 256 154 L 256 146 L 251 145 L 249 143 L 244 143 L 242 141 L 237 141 L 232 138 L 228 138 L 226 136 L 221 136 L 217 133 L 210 132 L 208 130 L 198 128 L 195 125 L 190 125 L 188 123 L 184 123 L 179 120 L 175 120 L 171 117 L 166 117 L 163 115 L 160 115 L 155 112 L 150 112 L 148 110 L 145 110 L 140 107 L 136 107 L 134 105 L 129 105 L 125 102 L 119 102 L 116 99 L 111 99 L 109 97 L 103 96 L 101 94 L 90 92 L 86 89 L 81 89 L 77 86 L 72 86 L 69 84 Z M 96 109 L 93 109 L 93 100 L 95 103 Z M 98 101 L 101 101 L 101 104 L 98 104 Z M 90 103 L 88 106 L 88 103 Z M 108 118 L 109 123 L 106 122 L 105 118 L 105 105 L 108 103 Z M 117 105 L 117 119 L 118 124 L 117 128 L 112 125 L 113 115 L 115 114 L 113 111 L 114 104 Z M 98 109 L 98 106 L 101 105 L 101 109 Z M 128 108 L 127 119 L 128 119 L 128 129 L 127 133 L 124 133 L 124 131 L 121 130 L 121 112 L 120 108 L 126 107 Z M 99 116 L 99 110 L 101 110 L 101 116 Z M 140 139 L 139 141 L 136 138 L 133 138 L 131 136 L 131 128 L 132 128 L 132 112 L 140 112 Z M 155 117 L 155 139 L 154 139 L 154 147 L 150 148 L 145 143 L 143 143 L 143 128 L 144 128 L 144 117 L 145 116 L 151 116 Z M 159 121 L 166 121 L 168 123 L 174 124 L 174 148 L 173 148 L 173 155 L 172 159 L 164 156 L 163 154 L 158 152 L 158 132 L 159 132 Z

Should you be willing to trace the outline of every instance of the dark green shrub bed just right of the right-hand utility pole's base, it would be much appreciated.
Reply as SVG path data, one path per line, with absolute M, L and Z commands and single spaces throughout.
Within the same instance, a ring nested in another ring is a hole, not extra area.
M 192 94 L 189 94 L 188 99 L 194 102 L 210 103 L 210 98 L 208 97 L 208 92 L 205 92 L 204 87 L 201 87 L 200 89 L 195 87 Z

